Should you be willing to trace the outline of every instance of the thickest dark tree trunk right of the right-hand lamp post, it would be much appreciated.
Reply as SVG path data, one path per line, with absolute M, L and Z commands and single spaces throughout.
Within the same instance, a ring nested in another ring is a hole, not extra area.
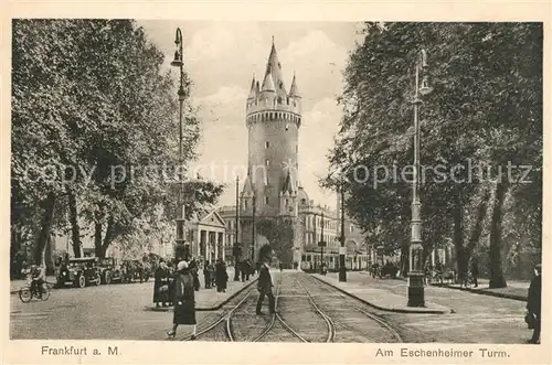
M 508 184 L 498 182 L 495 192 L 495 205 L 490 222 L 489 239 L 489 288 L 506 288 L 506 279 L 502 273 L 502 206 L 506 200 Z

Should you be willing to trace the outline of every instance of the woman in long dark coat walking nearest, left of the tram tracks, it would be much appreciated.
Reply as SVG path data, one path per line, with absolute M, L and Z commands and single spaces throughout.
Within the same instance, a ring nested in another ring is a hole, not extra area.
M 179 324 L 188 324 L 193 326 L 191 340 L 195 340 L 197 322 L 193 278 L 185 261 L 178 264 L 177 271 L 172 331 L 167 332 L 167 335 L 173 339 Z

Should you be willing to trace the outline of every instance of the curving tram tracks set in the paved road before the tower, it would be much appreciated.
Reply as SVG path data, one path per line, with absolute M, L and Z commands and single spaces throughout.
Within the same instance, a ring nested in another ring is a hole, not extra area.
M 330 286 L 319 282 L 310 276 L 302 277 L 301 275 L 290 275 L 288 280 L 291 279 L 293 285 L 289 286 L 289 283 L 283 283 L 283 275 L 278 276 L 275 296 L 277 311 L 269 319 L 254 314 L 256 299 L 253 293 L 256 290 L 251 289 L 216 320 L 201 329 L 195 337 L 200 339 L 209 335 L 210 341 L 226 342 L 293 341 L 290 340 L 293 337 L 304 343 L 403 342 L 399 332 L 385 319 L 371 313 L 362 308 L 362 305 L 355 303 L 354 299 L 346 297 Z M 291 290 L 291 296 L 284 296 L 284 288 L 288 292 Z M 294 291 L 296 294 L 294 294 Z M 304 320 L 297 316 L 300 314 L 298 314 L 297 304 L 294 301 L 285 302 L 290 312 L 286 310 L 286 305 L 284 305 L 284 312 L 279 312 L 278 309 L 280 309 L 280 301 L 284 297 L 304 298 L 302 300 L 306 300 L 304 305 L 308 305 L 304 307 L 304 309 L 312 313 L 309 314 L 310 320 L 302 322 Z M 337 307 L 336 299 L 339 299 L 339 305 Z M 288 315 L 290 318 L 286 318 Z M 314 315 L 317 315 L 318 320 Z M 304 326 L 302 330 L 294 329 L 286 321 L 289 319 L 297 323 L 306 324 L 306 328 Z M 320 319 L 323 322 L 318 322 Z M 263 323 L 263 321 L 266 321 L 266 323 Z M 278 325 L 276 325 L 277 323 Z M 309 331 L 309 328 L 311 329 L 309 332 L 310 335 L 315 334 L 315 337 L 306 336 L 305 333 L 301 333 L 301 331 Z M 322 332 L 323 328 L 326 328 L 327 335 Z M 286 337 L 284 335 L 286 332 L 293 337 Z M 211 337 L 214 339 L 212 340 Z M 191 340 L 191 335 L 187 335 L 182 341 L 187 340 Z

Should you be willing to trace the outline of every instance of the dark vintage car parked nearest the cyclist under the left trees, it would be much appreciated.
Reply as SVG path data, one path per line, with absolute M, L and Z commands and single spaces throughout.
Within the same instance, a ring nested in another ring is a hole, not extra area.
M 99 286 L 102 276 L 96 257 L 72 258 L 63 264 L 57 276 L 57 287 L 84 288 L 92 283 Z

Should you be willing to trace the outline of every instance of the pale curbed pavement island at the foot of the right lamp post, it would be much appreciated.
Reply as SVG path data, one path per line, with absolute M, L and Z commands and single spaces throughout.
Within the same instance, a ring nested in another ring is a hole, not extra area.
M 335 273 L 322 276 L 320 273 L 312 273 L 312 277 L 323 281 L 339 291 L 355 298 L 368 305 L 375 309 L 399 313 L 420 313 L 420 314 L 445 314 L 450 313 L 450 309 L 444 305 L 425 302 L 425 308 L 406 307 L 405 296 L 397 294 L 384 288 L 376 288 L 375 286 L 367 286 L 362 283 L 361 278 L 365 278 L 360 272 L 348 272 L 348 281 L 341 282 Z M 357 279 L 357 280 L 355 280 Z M 404 286 L 404 281 L 396 281 L 397 286 Z M 406 291 L 406 286 L 404 286 Z

